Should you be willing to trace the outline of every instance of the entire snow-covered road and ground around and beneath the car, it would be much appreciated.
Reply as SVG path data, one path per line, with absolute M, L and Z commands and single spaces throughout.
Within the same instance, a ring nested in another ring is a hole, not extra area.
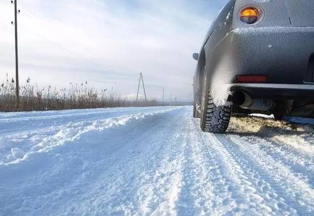
M 191 113 L 0 113 L 0 215 L 314 215 L 311 127 Z

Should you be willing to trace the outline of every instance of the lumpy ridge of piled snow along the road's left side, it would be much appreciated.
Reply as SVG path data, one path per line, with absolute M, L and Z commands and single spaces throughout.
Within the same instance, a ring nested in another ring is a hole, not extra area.
M 158 116 L 178 109 L 172 107 L 156 110 L 154 112 L 122 115 L 118 118 L 107 118 L 94 121 L 69 122 L 60 127 L 52 136 L 45 137 L 41 142 L 32 146 L 27 152 L 19 148 L 12 148 L 12 143 L 7 139 L 2 139 L 2 145 L 11 149 L 10 155 L 3 164 L 22 162 L 37 157 L 38 153 L 51 152 L 54 148 L 71 144 L 104 144 L 117 136 L 125 134 L 131 129 L 135 129 L 139 124 L 145 124 Z M 1 163 L 0 163 L 1 166 Z

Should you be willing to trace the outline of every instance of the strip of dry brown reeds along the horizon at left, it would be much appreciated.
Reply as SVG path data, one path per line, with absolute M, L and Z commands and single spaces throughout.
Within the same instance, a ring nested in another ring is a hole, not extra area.
M 15 80 L 9 79 L 0 85 L 0 111 L 34 111 L 87 109 L 103 107 L 158 106 L 156 101 L 135 102 L 127 98 L 114 96 L 107 90 L 97 91 L 89 87 L 87 82 L 70 83 L 68 88 L 56 89 L 51 86 L 40 88 L 27 79 L 20 86 L 20 103 L 17 105 L 15 96 Z

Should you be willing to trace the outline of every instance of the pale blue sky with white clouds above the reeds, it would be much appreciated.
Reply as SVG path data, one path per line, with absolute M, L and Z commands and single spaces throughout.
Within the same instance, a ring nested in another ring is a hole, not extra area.
M 18 0 L 19 79 L 40 86 L 85 82 L 136 97 L 192 101 L 204 36 L 226 0 Z M 15 77 L 13 5 L 0 0 L 0 82 Z M 143 95 L 142 88 L 140 94 Z

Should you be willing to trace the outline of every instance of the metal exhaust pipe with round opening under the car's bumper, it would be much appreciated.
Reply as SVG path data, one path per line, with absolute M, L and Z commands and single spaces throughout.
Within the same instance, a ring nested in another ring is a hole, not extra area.
M 235 92 L 232 96 L 232 103 L 243 109 L 268 111 L 273 107 L 271 99 L 253 99 L 245 92 Z

